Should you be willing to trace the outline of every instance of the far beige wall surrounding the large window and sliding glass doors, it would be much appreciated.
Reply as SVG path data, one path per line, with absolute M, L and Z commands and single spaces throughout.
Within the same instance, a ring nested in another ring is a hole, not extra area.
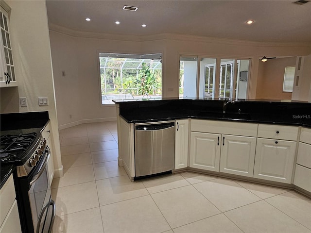
M 57 31 L 57 32 L 56 32 Z M 177 97 L 179 83 L 179 55 L 206 57 L 252 58 L 250 99 L 256 98 L 259 57 L 274 54 L 288 56 L 307 54 L 310 45 L 260 44 L 256 42 L 230 41 L 186 35 L 155 35 L 137 37 L 131 41 L 106 38 L 89 38 L 92 35 L 75 34 L 72 31 L 51 29 L 53 74 L 60 128 L 90 122 L 115 119 L 114 106 L 100 105 L 98 52 L 155 53 L 162 52 L 162 95 Z M 101 37 L 94 35 L 94 37 Z M 104 36 L 103 36 L 104 37 Z M 66 77 L 62 77 L 62 70 Z M 287 97 L 286 99 L 288 99 Z M 69 118 L 69 115 L 72 118 Z

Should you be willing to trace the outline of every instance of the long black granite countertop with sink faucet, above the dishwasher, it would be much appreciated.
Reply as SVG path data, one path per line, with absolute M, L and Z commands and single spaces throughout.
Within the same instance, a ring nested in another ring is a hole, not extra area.
M 128 123 L 182 118 L 296 125 L 311 128 L 311 103 L 260 100 L 152 100 L 117 102 Z M 224 113 L 224 103 L 225 113 Z

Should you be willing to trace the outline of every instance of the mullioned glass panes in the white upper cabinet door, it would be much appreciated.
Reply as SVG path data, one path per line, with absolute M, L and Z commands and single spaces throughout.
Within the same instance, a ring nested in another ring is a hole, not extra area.
M 2 5 L 2 4 L 1 4 Z M 12 47 L 9 33 L 9 19 L 7 12 L 1 7 L 0 11 L 0 28 L 1 28 L 1 39 L 0 39 L 0 50 L 1 50 L 1 78 L 3 74 L 8 73 L 11 81 L 15 81 L 14 63 L 12 57 Z M 4 80 L 0 80 L 4 81 Z

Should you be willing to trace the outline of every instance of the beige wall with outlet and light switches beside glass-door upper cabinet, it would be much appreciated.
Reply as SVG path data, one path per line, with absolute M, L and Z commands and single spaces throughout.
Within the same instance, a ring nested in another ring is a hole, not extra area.
M 49 111 L 54 145 L 55 177 L 62 176 L 50 37 L 45 1 L 6 1 L 11 7 L 10 38 L 18 87 L 1 88 L 1 113 Z M 19 106 L 26 97 L 28 106 Z M 48 97 L 49 106 L 39 106 Z

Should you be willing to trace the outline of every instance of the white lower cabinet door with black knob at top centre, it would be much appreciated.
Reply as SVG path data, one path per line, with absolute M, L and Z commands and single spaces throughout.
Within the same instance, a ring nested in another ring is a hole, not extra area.
M 291 183 L 295 150 L 295 141 L 258 138 L 254 177 Z

